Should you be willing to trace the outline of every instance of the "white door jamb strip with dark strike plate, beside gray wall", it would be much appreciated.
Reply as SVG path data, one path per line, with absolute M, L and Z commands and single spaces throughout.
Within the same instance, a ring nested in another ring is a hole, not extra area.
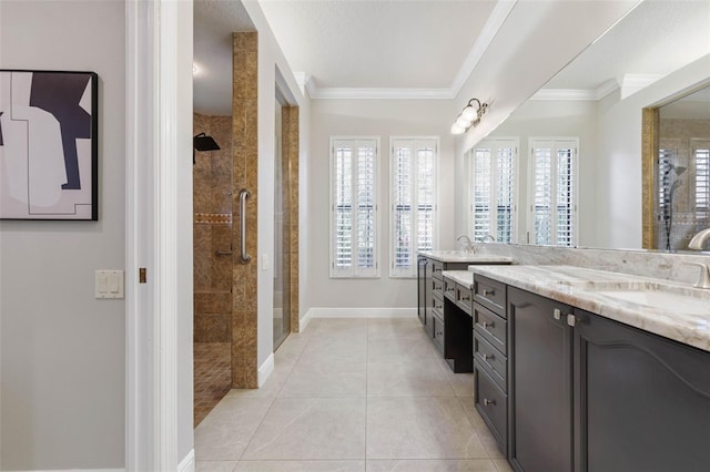
M 154 80 L 158 7 L 125 2 L 125 465 L 128 470 L 156 466 L 154 434 L 154 359 L 152 348 L 153 266 L 153 107 L 149 84 Z M 149 284 L 139 285 L 139 267 L 151 269 Z

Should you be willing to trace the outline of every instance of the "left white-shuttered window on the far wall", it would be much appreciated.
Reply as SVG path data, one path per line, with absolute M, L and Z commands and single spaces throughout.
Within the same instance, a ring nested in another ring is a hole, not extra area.
M 331 138 L 331 277 L 378 276 L 378 138 Z

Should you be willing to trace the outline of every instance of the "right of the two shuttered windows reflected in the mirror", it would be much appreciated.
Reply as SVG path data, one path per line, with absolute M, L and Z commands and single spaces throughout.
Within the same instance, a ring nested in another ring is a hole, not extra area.
M 530 243 L 577 245 L 578 140 L 530 140 Z

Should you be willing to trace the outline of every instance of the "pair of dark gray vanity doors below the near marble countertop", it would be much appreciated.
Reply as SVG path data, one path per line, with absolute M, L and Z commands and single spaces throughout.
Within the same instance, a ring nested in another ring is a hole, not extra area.
M 708 470 L 710 352 L 515 287 L 507 307 L 516 471 Z

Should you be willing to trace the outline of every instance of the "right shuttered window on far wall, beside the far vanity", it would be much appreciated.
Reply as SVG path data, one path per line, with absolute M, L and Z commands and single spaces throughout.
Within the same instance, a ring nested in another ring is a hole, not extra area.
M 437 138 L 392 138 L 392 277 L 416 277 L 416 254 L 434 249 Z

